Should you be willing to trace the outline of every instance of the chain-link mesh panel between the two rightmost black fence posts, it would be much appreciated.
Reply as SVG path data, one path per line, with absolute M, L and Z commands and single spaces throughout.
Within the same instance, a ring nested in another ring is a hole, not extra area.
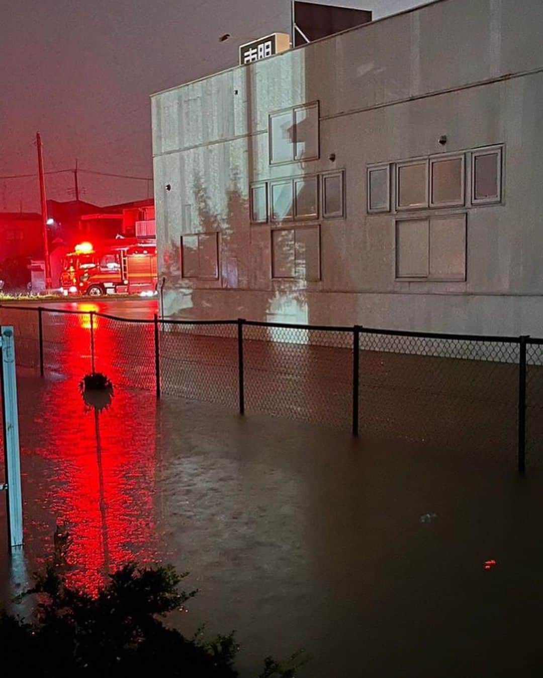
M 360 431 L 514 459 L 518 365 L 514 340 L 361 332 Z

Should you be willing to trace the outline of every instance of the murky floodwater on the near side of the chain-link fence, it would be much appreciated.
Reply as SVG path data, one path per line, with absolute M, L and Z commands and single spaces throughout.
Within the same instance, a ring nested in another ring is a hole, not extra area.
M 123 387 L 96 418 L 76 376 L 19 388 L 26 542 L 1 552 L 1 598 L 59 521 L 89 591 L 129 559 L 190 571 L 173 623 L 236 629 L 242 678 L 300 648 L 311 678 L 539 675 L 538 469 Z

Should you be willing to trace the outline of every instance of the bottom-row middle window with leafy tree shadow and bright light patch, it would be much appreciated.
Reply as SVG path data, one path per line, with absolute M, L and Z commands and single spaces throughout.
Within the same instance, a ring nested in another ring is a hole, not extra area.
M 297 226 L 271 231 L 271 277 L 320 280 L 320 228 Z

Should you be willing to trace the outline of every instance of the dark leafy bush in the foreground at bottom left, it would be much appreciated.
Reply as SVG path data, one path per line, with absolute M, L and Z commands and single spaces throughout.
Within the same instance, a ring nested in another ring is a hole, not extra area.
M 234 634 L 203 642 L 187 639 L 162 623 L 160 616 L 196 595 L 178 591 L 185 574 L 173 567 L 138 569 L 125 565 L 110 576 L 95 597 L 70 589 L 55 567 L 37 578 L 37 621 L 29 624 L 0 616 L 2 669 L 34 677 L 117 677 L 161 675 L 165 678 L 231 678 L 238 652 Z M 289 666 L 267 658 L 261 678 L 289 678 Z M 300 665 L 300 662 L 298 662 Z

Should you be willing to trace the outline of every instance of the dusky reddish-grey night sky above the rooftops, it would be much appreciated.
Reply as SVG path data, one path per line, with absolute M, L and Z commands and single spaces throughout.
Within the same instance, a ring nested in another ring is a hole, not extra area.
M 343 0 L 374 18 L 420 0 Z M 238 45 L 288 32 L 288 0 L 1 0 L 0 177 L 79 167 L 152 177 L 149 95 L 234 66 Z M 232 37 L 220 42 L 219 37 Z M 152 181 L 80 174 L 81 199 L 152 196 Z M 69 200 L 72 174 L 47 176 Z M 0 178 L 0 210 L 37 210 L 37 179 Z

